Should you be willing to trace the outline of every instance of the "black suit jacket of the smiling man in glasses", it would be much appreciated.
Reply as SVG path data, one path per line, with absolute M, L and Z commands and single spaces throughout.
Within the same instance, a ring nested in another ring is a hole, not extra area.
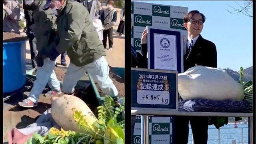
M 188 70 L 188 68 L 196 65 L 217 68 L 217 50 L 215 44 L 199 35 L 190 52 L 188 52 L 187 48 L 183 62 L 184 72 Z

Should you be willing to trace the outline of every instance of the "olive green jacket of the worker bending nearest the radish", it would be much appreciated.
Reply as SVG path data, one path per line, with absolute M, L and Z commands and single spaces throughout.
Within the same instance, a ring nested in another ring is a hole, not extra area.
M 67 51 L 70 62 L 76 66 L 106 55 L 88 10 L 76 1 L 65 1 L 59 8 L 57 32 L 60 42 L 56 50 L 60 54 Z

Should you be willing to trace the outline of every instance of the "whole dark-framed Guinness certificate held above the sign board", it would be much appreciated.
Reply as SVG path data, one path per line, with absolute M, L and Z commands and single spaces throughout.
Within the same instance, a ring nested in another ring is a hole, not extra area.
M 182 30 L 172 28 L 148 30 L 148 68 L 183 72 Z

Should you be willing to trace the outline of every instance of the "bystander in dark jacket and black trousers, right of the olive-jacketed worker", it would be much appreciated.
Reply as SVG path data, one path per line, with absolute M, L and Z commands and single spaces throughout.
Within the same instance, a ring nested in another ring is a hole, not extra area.
M 108 0 L 107 6 L 108 8 L 102 9 L 100 20 L 103 24 L 103 27 L 105 28 L 103 30 L 103 46 L 107 50 L 112 50 L 113 47 L 113 26 L 116 23 L 117 20 L 117 12 L 112 7 L 112 4 L 114 4 L 113 0 Z M 108 37 L 108 48 L 107 48 L 107 37 Z

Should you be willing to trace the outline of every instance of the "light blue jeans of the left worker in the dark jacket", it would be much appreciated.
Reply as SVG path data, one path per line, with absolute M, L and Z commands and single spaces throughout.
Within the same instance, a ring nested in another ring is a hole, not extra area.
M 28 99 L 32 102 L 38 102 L 39 95 L 42 94 L 47 82 L 52 90 L 60 90 L 60 82 L 54 72 L 55 64 L 56 60 L 51 61 L 50 58 L 45 58 L 44 65 L 42 67 L 38 67 L 36 80 L 34 81 L 33 88 L 28 96 Z

